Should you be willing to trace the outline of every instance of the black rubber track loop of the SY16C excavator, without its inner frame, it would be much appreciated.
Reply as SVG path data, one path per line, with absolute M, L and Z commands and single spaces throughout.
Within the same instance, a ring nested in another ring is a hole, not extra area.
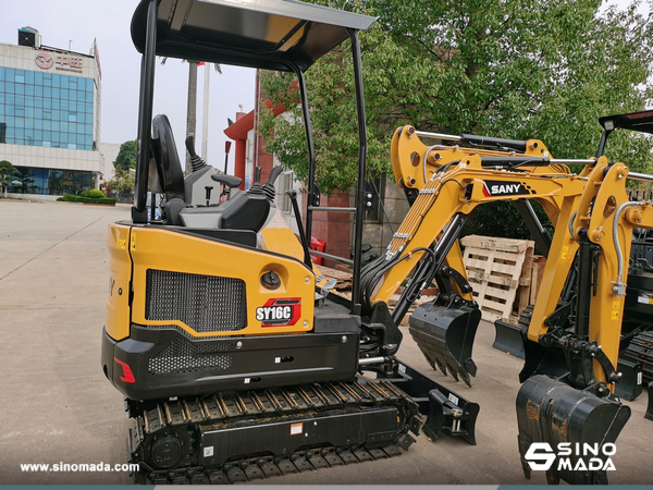
M 143 456 L 147 438 L 163 428 L 187 430 L 187 426 L 190 425 L 195 426 L 197 431 L 202 422 L 221 421 L 226 422 L 229 427 L 231 421 L 236 422 L 243 417 L 251 419 L 254 416 L 255 419 L 260 417 L 269 420 L 276 414 L 303 417 L 303 414 L 315 414 L 320 409 L 379 405 L 397 406 L 404 413 L 403 426 L 397 431 L 395 441 L 379 449 L 366 450 L 360 445 L 323 446 L 295 452 L 283 457 L 270 455 L 230 461 L 222 467 L 186 466 L 162 470 L 150 468 L 139 457 Z M 136 429 L 130 431 L 127 450 L 130 462 L 138 463 L 140 466 L 135 475 L 138 483 L 235 483 L 401 455 L 402 449 L 396 442 L 399 437 L 408 432 L 414 418 L 418 417 L 417 404 L 397 387 L 383 380 L 364 379 L 354 382 L 316 383 L 247 392 L 221 392 L 201 400 L 195 397 L 168 402 L 146 411 L 136 418 Z

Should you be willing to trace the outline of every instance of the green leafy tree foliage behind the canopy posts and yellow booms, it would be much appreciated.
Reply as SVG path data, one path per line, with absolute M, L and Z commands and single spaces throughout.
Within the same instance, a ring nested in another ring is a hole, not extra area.
M 597 118 L 641 110 L 652 87 L 653 26 L 648 16 L 602 9 L 600 0 L 313 0 L 379 16 L 360 33 L 368 121 L 368 168 L 390 173 L 395 127 L 542 139 L 558 158 L 595 154 Z M 651 9 L 653 10 L 653 9 Z M 266 74 L 262 87 L 288 112 L 264 109 L 259 131 L 268 151 L 307 176 L 300 107 L 287 74 Z M 358 134 L 350 49 L 307 73 L 322 191 L 356 180 Z M 611 136 L 607 156 L 651 169 L 650 143 L 628 132 Z

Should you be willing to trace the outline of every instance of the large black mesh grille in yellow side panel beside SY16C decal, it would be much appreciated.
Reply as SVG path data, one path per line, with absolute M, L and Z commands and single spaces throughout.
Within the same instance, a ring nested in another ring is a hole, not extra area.
M 196 332 L 247 327 L 247 294 L 242 279 L 147 270 L 145 318 L 178 320 Z

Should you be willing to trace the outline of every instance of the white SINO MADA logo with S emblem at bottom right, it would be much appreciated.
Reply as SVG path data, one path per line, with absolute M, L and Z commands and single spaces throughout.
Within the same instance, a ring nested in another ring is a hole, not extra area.
M 560 442 L 557 453 L 546 442 L 533 442 L 523 457 L 532 470 L 546 471 L 551 469 L 557 460 L 557 469 L 570 469 L 574 471 L 612 470 L 615 465 L 609 456 L 614 456 L 617 446 L 611 442 L 607 444 L 572 444 Z

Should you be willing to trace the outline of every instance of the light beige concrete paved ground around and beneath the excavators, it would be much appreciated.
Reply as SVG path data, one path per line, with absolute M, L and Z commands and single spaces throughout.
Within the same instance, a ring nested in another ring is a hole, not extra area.
M 130 428 L 121 394 L 100 369 L 108 284 L 108 223 L 126 206 L 0 200 L 0 483 L 128 483 L 122 473 L 21 473 L 21 463 L 123 463 Z M 399 355 L 480 403 L 478 445 L 422 434 L 407 454 L 268 483 L 526 483 L 515 396 L 521 362 L 492 348 L 479 328 L 473 388 L 428 368 L 408 332 Z M 617 441 L 612 483 L 651 483 L 653 421 L 646 395 Z M 533 474 L 533 483 L 544 483 Z

